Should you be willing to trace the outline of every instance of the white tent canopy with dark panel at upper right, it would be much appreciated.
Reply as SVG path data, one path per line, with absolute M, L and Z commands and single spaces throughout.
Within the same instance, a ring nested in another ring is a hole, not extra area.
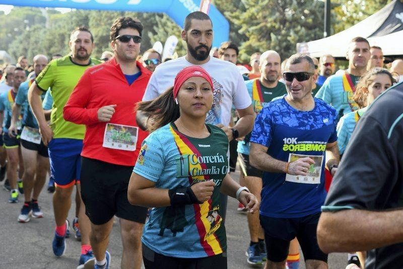
M 307 50 L 314 57 L 345 57 L 350 41 L 357 36 L 367 38 L 371 46 L 381 47 L 384 55 L 403 55 L 403 3 L 394 0 L 349 29 L 307 42 Z

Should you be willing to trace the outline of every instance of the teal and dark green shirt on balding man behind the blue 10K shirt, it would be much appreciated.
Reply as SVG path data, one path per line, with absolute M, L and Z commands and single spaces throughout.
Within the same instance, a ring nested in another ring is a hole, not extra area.
M 282 82 L 278 82 L 274 88 L 264 87 L 259 79 L 245 81 L 245 85 L 249 96 L 252 98 L 252 108 L 256 115 L 268 102 L 287 93 L 286 85 Z M 249 139 L 250 133 L 246 135 L 243 141 L 238 142 L 237 152 L 249 155 Z

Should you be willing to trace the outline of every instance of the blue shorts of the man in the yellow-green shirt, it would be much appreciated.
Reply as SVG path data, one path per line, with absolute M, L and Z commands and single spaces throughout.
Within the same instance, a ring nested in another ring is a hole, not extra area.
M 50 171 L 55 185 L 68 188 L 80 181 L 82 150 L 83 141 L 80 139 L 55 138 L 50 141 Z

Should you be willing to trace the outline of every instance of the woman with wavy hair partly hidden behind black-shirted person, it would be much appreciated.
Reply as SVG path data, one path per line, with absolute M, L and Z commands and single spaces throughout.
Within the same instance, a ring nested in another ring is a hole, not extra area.
M 344 115 L 337 126 L 340 155 L 346 150 L 355 126 L 360 117 L 367 111 L 368 106 L 393 83 L 392 75 L 383 68 L 373 68 L 360 79 L 354 94 L 354 101 L 360 109 Z

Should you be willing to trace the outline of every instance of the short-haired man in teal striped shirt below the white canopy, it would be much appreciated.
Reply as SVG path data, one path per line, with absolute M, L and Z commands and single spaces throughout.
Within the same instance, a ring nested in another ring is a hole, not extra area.
M 367 71 L 370 58 L 368 40 L 363 37 L 353 38 L 346 58 L 349 60 L 349 68 L 330 76 L 315 95 L 316 98 L 332 105 L 337 110 L 339 119 L 344 114 L 359 109 L 353 96 L 355 85 Z

